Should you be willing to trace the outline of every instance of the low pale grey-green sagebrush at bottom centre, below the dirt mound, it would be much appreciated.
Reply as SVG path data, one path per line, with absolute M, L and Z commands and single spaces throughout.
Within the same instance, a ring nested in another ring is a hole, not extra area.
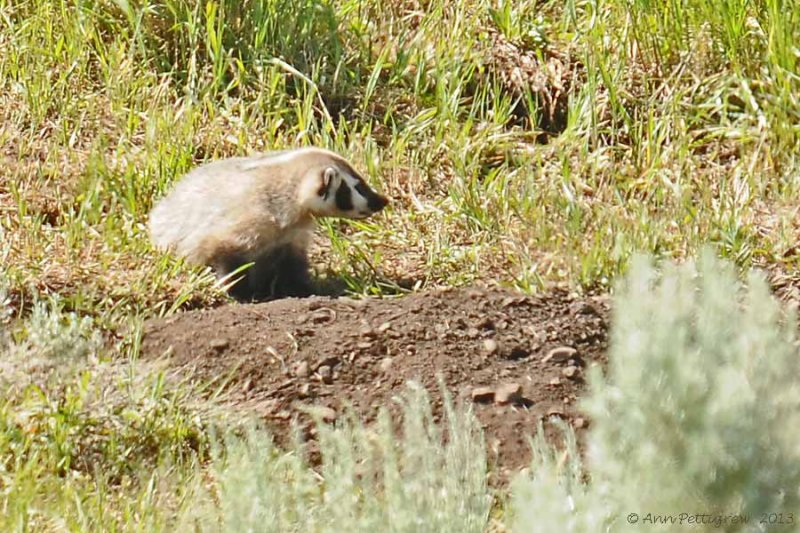
M 409 386 L 399 437 L 386 411 L 372 428 L 352 417 L 337 427 L 318 420 L 318 473 L 299 444 L 280 451 L 257 430 L 228 438 L 212 466 L 214 497 L 189 507 L 185 527 L 483 531 L 491 504 L 483 439 L 471 412 L 446 403 L 439 427 L 424 389 Z

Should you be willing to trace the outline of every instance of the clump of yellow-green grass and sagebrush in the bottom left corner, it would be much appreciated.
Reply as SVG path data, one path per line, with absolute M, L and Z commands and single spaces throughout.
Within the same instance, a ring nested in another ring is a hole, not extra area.
M 112 360 L 88 319 L 36 302 L 0 345 L 0 529 L 163 527 L 205 454 L 186 386 Z M 132 355 L 132 354 L 131 354 Z

